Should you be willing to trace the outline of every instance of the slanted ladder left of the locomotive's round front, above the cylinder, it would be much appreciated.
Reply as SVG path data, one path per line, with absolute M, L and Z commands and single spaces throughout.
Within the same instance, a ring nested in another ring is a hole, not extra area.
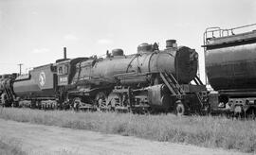
M 169 90 L 173 95 L 184 95 L 184 90 L 180 87 L 176 79 L 172 74 L 166 72 L 160 72 L 160 77 L 163 79 L 164 83 L 167 85 Z

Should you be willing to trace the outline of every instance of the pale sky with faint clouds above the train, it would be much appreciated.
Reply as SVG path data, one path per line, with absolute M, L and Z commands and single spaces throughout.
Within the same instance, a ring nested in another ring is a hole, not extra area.
M 204 80 L 205 29 L 254 23 L 255 0 L 0 0 L 0 74 L 53 63 L 64 46 L 68 58 L 128 55 L 139 43 L 163 49 L 175 39 L 199 53 Z

